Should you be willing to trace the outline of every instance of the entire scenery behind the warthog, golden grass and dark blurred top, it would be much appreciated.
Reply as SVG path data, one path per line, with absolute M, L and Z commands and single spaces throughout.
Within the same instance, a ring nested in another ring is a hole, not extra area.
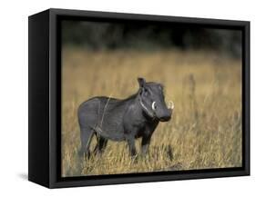
M 61 58 L 63 176 L 241 166 L 241 31 L 63 21 Z M 109 142 L 101 157 L 78 158 L 79 104 L 101 95 L 127 98 L 137 93 L 138 76 L 163 84 L 175 104 L 147 157 L 133 163 L 127 143 Z

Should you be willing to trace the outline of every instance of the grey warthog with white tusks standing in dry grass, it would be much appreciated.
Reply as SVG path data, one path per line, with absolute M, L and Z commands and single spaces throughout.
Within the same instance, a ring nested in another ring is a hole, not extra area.
M 89 158 L 93 134 L 97 135 L 94 153 L 102 153 L 109 139 L 127 141 L 130 155 L 136 156 L 135 139 L 139 137 L 141 153 L 148 152 L 152 133 L 159 122 L 170 120 L 174 105 L 167 107 L 161 84 L 147 83 L 143 78 L 138 78 L 138 84 L 138 93 L 127 99 L 97 96 L 79 106 L 80 155 Z

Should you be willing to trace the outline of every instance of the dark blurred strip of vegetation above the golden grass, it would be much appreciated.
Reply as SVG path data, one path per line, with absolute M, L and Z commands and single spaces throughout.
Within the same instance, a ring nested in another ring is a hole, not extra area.
M 63 44 L 88 50 L 210 50 L 241 58 L 241 31 L 136 22 L 63 22 Z

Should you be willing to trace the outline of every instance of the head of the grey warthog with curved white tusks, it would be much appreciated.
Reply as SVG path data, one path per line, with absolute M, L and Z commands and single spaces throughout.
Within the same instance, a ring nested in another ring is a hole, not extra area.
M 143 78 L 138 78 L 138 84 L 138 100 L 143 111 L 160 122 L 169 121 L 174 105 L 172 102 L 169 102 L 169 106 L 165 103 L 163 85 L 153 82 L 147 83 Z

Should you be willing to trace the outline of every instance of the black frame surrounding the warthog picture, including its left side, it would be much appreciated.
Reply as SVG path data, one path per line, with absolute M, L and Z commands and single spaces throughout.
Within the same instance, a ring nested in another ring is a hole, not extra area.
M 242 31 L 242 167 L 178 172 L 142 172 L 86 177 L 60 176 L 61 32 L 60 21 L 144 21 L 200 25 Z M 48 9 L 28 20 L 29 130 L 28 180 L 48 188 L 159 182 L 250 175 L 250 22 L 163 15 L 134 15 Z

